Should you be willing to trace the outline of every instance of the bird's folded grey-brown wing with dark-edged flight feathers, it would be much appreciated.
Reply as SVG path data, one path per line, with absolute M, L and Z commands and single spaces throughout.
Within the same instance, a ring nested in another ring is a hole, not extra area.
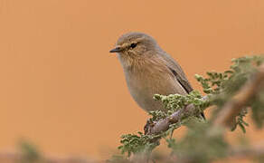
M 182 85 L 184 90 L 187 93 L 193 91 L 193 87 L 191 86 L 190 82 L 188 82 L 181 66 L 167 53 L 163 53 L 162 58 L 165 60 L 168 69 L 174 73 L 175 78 Z

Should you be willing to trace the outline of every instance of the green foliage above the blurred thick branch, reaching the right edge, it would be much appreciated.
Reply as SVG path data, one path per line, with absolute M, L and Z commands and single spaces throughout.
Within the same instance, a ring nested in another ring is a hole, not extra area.
M 247 82 L 257 67 L 264 61 L 263 56 L 246 56 L 232 59 L 230 70 L 225 72 L 207 72 L 207 78 L 196 74 L 195 78 L 201 83 L 206 94 L 221 94 L 229 98 Z

